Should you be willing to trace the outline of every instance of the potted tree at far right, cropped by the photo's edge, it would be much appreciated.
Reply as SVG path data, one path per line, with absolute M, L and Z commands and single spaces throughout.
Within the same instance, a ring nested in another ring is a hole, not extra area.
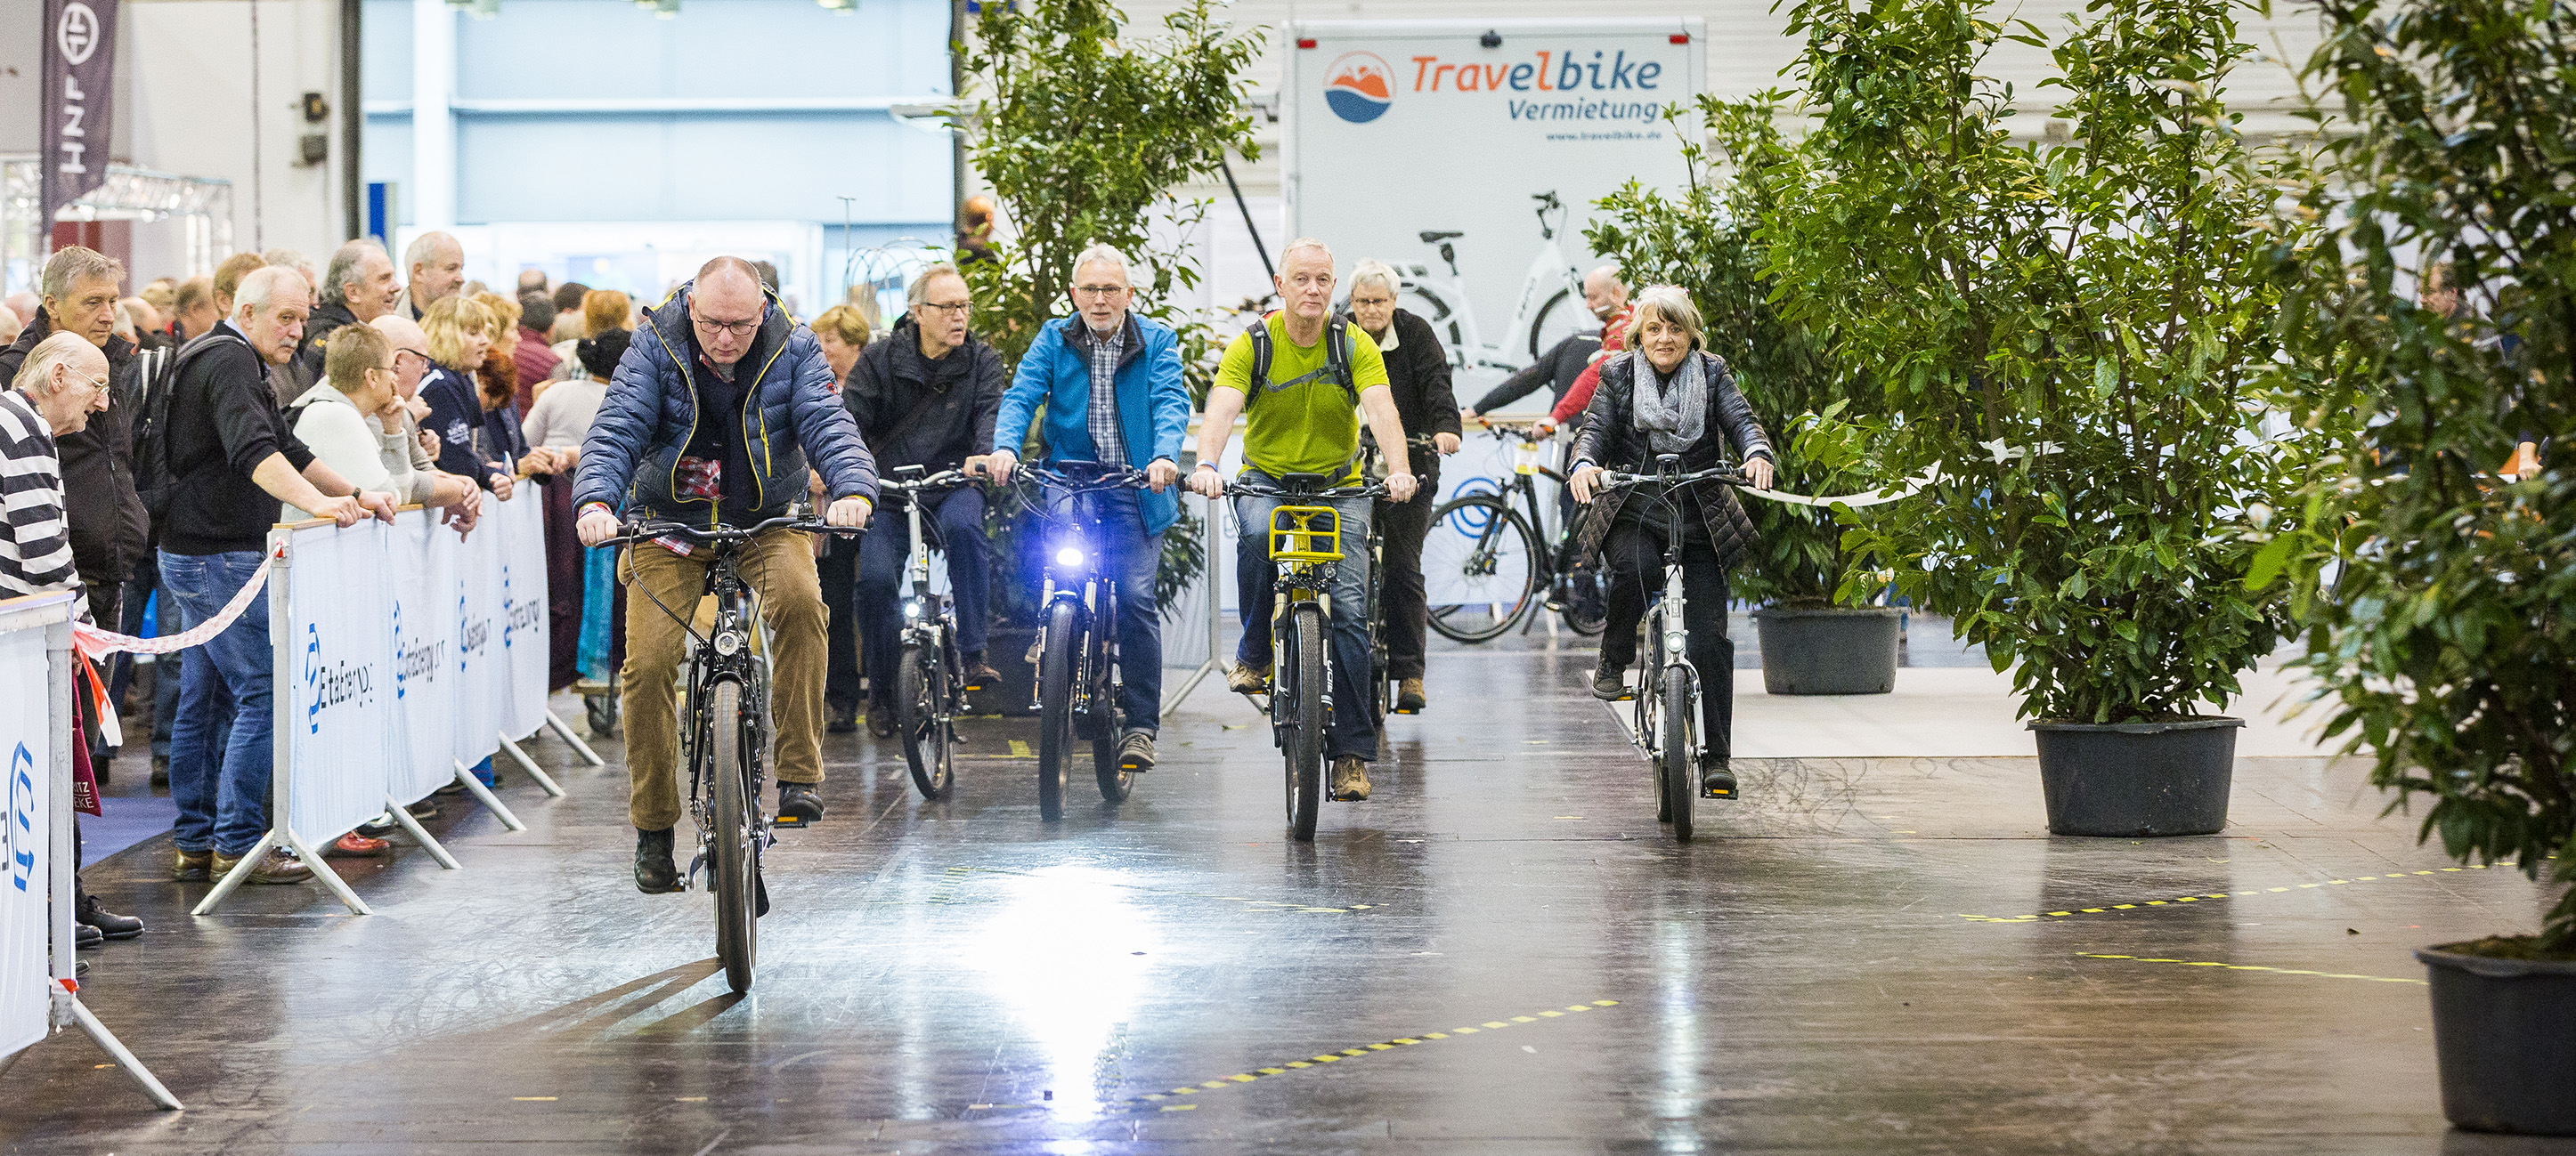
M 2576 124 L 2568 15 L 2324 0 L 2308 64 L 2339 100 L 2298 206 L 2334 221 L 2280 270 L 2285 396 L 2342 453 L 2249 584 L 2308 620 L 2329 731 L 2427 798 L 2419 839 L 2576 881 Z M 2282 582 L 2277 574 L 2287 574 Z M 2540 935 L 2416 953 L 2450 1123 L 2576 1135 L 2576 891 Z

